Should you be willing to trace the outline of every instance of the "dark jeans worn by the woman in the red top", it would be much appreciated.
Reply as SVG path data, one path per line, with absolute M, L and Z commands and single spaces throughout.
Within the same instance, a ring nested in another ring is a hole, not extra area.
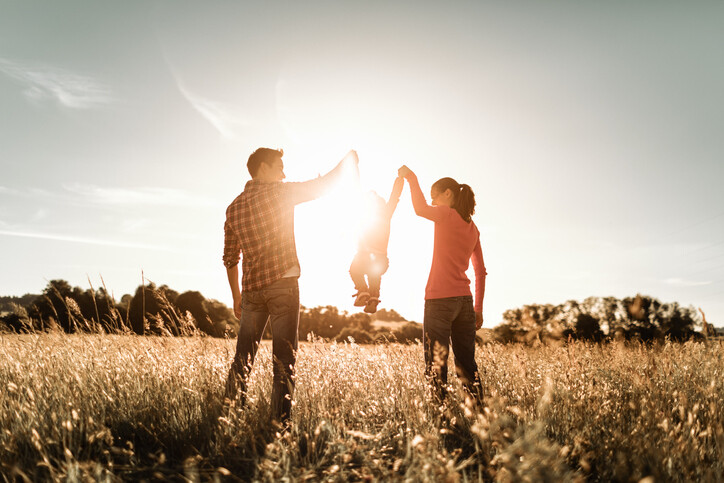
M 479 402 L 482 397 L 475 363 L 475 310 L 470 295 L 425 300 L 423 321 L 425 375 L 435 395 L 442 400 L 447 384 L 450 341 L 455 354 L 455 372 L 463 386 Z

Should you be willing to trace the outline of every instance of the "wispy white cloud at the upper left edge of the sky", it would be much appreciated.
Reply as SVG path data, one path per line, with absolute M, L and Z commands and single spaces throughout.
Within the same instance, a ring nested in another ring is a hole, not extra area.
M 53 100 L 71 109 L 92 109 L 115 100 L 111 89 L 98 80 L 58 67 L 0 58 L 0 73 L 19 82 L 32 102 Z

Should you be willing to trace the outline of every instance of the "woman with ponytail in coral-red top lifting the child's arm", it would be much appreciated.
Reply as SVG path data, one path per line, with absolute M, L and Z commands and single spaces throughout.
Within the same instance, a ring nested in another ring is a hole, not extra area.
M 407 166 L 398 175 L 410 185 L 412 206 L 418 216 L 435 222 L 435 244 L 430 276 L 425 287 L 423 345 L 426 376 L 435 394 L 445 397 L 447 358 L 452 341 L 455 369 L 465 389 L 479 401 L 482 396 L 475 363 L 475 331 L 483 325 L 485 263 L 480 232 L 472 221 L 475 195 L 470 186 L 452 178 L 432 185 L 432 206 L 425 201 L 417 176 Z M 465 276 L 470 260 L 475 270 L 475 304 Z

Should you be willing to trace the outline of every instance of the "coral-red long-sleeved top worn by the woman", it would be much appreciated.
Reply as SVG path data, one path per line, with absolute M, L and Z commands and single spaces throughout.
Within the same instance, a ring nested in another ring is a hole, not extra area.
M 472 259 L 475 270 L 475 311 L 481 312 L 487 271 L 478 227 L 473 221 L 468 223 L 463 220 L 454 208 L 428 205 L 414 174 L 410 176 L 409 182 L 415 213 L 435 222 L 435 243 L 425 300 L 472 295 L 470 280 L 465 275 Z

